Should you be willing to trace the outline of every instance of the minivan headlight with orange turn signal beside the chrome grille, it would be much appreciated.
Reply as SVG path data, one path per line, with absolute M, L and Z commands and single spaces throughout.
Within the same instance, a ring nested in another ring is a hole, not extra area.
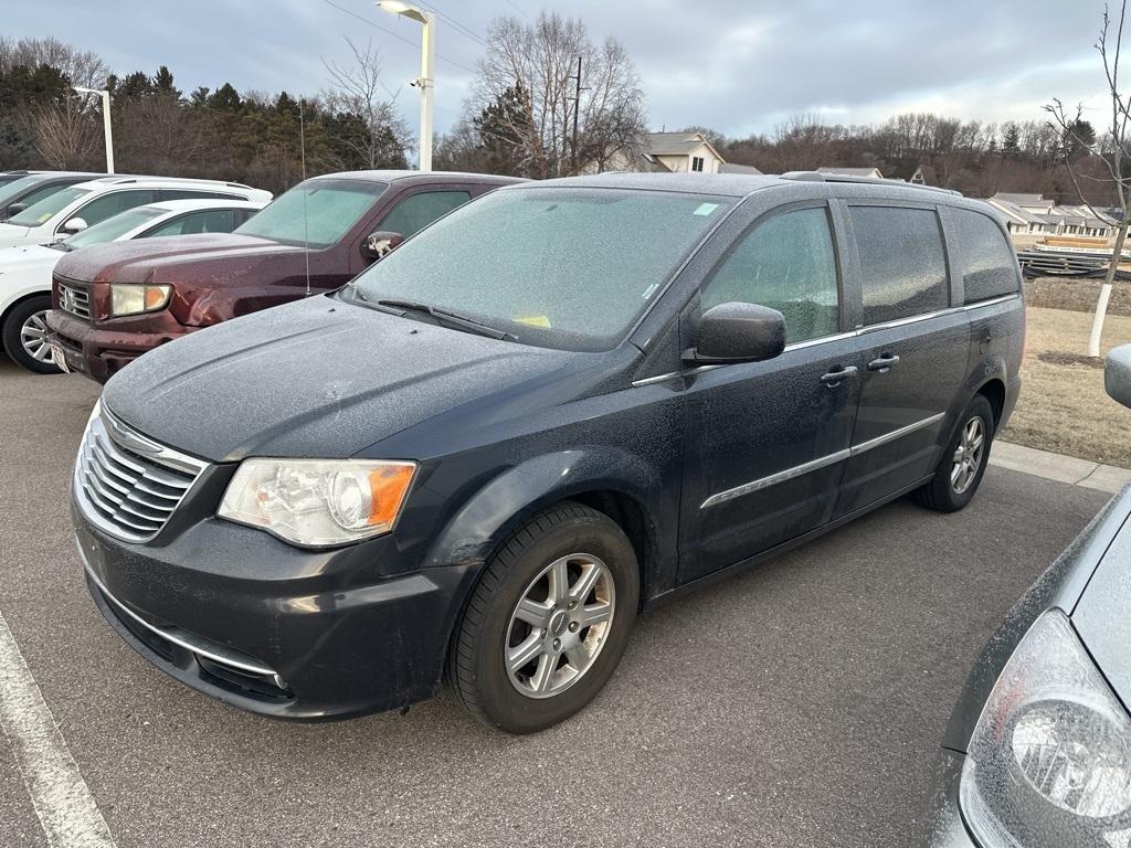
M 415 474 L 415 462 L 245 459 L 217 514 L 296 545 L 343 545 L 391 530 Z

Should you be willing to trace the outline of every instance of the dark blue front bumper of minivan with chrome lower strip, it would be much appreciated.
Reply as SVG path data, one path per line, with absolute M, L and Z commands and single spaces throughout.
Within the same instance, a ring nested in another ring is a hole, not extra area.
M 390 537 L 302 551 L 215 518 L 136 545 L 89 523 L 74 495 L 71 509 L 111 626 L 182 683 L 275 718 L 346 718 L 431 695 L 476 571 L 380 577 L 366 560 Z

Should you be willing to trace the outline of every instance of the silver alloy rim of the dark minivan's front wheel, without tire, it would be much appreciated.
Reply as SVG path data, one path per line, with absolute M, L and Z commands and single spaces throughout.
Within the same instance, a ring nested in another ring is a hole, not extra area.
M 615 612 L 608 568 L 592 554 L 546 565 L 526 587 L 510 616 L 503 663 L 527 698 L 551 698 L 593 668 Z

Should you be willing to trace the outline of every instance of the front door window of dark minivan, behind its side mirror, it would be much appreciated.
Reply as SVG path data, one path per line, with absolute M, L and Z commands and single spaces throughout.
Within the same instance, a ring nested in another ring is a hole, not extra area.
M 732 301 L 785 315 L 788 344 L 838 332 L 837 259 L 828 211 L 775 215 L 742 236 L 701 297 L 703 310 Z

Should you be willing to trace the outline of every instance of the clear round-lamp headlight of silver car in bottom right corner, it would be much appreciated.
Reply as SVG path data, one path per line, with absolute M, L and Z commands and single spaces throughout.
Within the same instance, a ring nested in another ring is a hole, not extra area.
M 1059 609 L 998 678 L 959 796 L 985 848 L 1131 846 L 1131 718 Z

